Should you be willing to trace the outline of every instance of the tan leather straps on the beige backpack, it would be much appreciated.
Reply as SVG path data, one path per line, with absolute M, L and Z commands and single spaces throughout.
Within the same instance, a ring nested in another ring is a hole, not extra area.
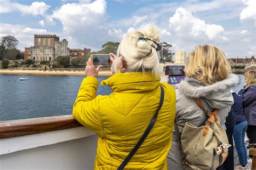
M 203 131 L 203 136 L 205 137 L 208 133 L 208 130 L 211 128 L 213 122 L 218 121 L 217 116 L 218 116 L 218 113 L 219 113 L 220 110 L 215 109 L 213 112 L 208 111 L 208 110 L 205 109 L 203 103 L 198 98 L 194 98 L 194 101 L 197 103 L 199 108 L 201 108 L 205 111 L 205 113 L 208 116 L 208 119 L 205 122 L 205 129 Z

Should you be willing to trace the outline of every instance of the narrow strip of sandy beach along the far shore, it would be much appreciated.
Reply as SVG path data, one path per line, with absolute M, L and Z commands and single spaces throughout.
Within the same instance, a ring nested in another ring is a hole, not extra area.
M 23 74 L 23 75 L 85 75 L 84 71 L 77 70 L 17 70 L 0 69 L 0 74 Z M 111 76 L 110 71 L 99 72 L 99 76 Z

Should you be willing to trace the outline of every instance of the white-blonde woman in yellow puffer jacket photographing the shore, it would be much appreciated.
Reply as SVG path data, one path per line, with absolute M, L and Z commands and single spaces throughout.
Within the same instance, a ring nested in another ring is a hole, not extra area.
M 124 37 L 117 56 L 111 53 L 113 76 L 101 82 L 113 90 L 107 96 L 96 97 L 100 66 L 87 62 L 73 117 L 98 134 L 95 169 L 167 169 L 176 95 L 170 84 L 160 83 L 159 41 L 152 25 Z M 153 128 L 146 130 L 148 125 Z

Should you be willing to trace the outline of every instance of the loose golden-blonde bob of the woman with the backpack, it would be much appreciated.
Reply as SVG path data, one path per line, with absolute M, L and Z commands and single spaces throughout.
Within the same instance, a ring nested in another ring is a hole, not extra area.
M 223 51 L 214 45 L 199 45 L 190 53 L 186 61 L 186 76 L 211 85 L 227 79 L 231 72 L 230 64 Z

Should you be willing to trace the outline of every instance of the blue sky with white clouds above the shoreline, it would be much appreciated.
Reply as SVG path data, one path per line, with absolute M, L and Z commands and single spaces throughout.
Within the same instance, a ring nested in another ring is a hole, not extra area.
M 156 24 L 172 50 L 219 46 L 228 58 L 255 55 L 255 0 L 0 0 L 0 37 L 33 45 L 33 34 L 56 34 L 70 48 L 97 51 L 145 24 Z M 48 30 L 48 31 L 47 31 Z

